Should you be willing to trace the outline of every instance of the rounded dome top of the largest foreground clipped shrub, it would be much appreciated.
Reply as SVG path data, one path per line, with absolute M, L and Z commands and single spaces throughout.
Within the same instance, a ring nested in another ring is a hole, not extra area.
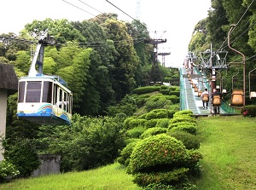
M 139 141 L 131 153 L 128 170 L 139 172 L 162 171 L 178 168 L 189 158 L 181 141 L 166 134 L 153 135 Z

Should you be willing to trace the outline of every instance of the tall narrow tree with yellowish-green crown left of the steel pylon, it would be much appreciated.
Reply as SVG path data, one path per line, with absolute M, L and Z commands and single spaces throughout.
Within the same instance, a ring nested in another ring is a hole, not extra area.
M 135 70 L 139 63 L 133 40 L 127 33 L 127 27 L 119 21 L 108 20 L 106 23 L 108 38 L 113 40 L 118 55 L 113 60 L 113 71 L 111 72 L 113 90 L 117 101 L 136 86 Z

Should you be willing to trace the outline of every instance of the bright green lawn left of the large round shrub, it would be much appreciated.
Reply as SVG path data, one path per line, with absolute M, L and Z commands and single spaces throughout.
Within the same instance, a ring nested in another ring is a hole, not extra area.
M 139 190 L 120 164 L 84 172 L 41 176 L 0 184 L 1 190 Z

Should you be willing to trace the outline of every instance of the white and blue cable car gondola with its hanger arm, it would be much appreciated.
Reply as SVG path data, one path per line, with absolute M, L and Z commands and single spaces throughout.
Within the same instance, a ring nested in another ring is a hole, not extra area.
M 44 45 L 49 40 L 47 33 L 40 37 L 29 74 L 19 79 L 17 117 L 38 124 L 71 124 L 73 95 L 67 83 L 43 74 Z

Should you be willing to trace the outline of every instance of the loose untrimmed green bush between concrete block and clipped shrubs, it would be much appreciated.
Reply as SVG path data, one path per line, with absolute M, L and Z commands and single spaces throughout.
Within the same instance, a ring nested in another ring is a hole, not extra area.
M 61 172 L 89 170 L 113 163 L 125 147 L 123 121 L 78 117 L 69 126 L 42 126 L 49 153 L 61 155 Z M 48 131 L 54 129 L 54 135 Z

